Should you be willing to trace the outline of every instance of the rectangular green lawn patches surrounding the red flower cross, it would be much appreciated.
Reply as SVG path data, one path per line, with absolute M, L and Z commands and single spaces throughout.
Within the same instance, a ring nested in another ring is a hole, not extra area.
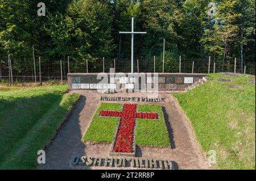
M 82 141 L 108 142 L 113 141 L 117 129 L 118 117 L 100 117 L 101 110 L 122 110 L 122 104 L 101 103 L 93 116 L 92 123 L 82 137 Z M 159 120 L 137 119 L 136 144 L 170 146 L 168 132 L 164 123 L 162 107 L 158 105 L 138 105 L 138 111 L 158 112 Z

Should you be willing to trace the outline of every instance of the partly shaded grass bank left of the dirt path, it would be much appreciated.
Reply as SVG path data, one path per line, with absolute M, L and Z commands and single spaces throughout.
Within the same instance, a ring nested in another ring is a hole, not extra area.
M 0 169 L 35 169 L 37 152 L 54 136 L 78 94 L 67 85 L 0 87 Z

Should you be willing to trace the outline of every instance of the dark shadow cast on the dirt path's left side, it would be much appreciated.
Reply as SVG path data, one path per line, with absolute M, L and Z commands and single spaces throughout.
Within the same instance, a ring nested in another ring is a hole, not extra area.
M 86 155 L 86 145 L 81 141 L 83 133 L 79 120 L 85 104 L 86 98 L 81 95 L 51 145 L 46 148 L 46 164 L 39 166 L 38 169 L 90 169 L 86 166 L 71 165 L 72 158 Z

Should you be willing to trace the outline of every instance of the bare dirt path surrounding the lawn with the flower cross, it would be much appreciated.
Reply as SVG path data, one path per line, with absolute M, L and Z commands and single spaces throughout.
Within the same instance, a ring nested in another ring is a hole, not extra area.
M 88 91 L 79 93 L 82 97 L 71 116 L 57 133 L 52 144 L 46 149 L 46 164 L 40 165 L 38 169 L 109 169 L 109 167 L 73 167 L 70 163 L 75 155 L 106 157 L 109 156 L 110 151 L 110 144 L 85 145 L 81 142 L 82 135 L 88 128 L 94 112 L 100 106 L 102 94 Z M 133 93 L 114 94 L 113 96 L 146 97 L 147 95 Z M 197 144 L 191 125 L 176 99 L 171 94 L 160 94 L 160 96 L 167 98 L 166 102 L 158 104 L 163 107 L 172 148 L 137 146 L 136 156 L 172 160 L 177 163 L 179 169 L 209 169 L 206 157 Z M 139 102 L 139 104 L 143 103 Z

